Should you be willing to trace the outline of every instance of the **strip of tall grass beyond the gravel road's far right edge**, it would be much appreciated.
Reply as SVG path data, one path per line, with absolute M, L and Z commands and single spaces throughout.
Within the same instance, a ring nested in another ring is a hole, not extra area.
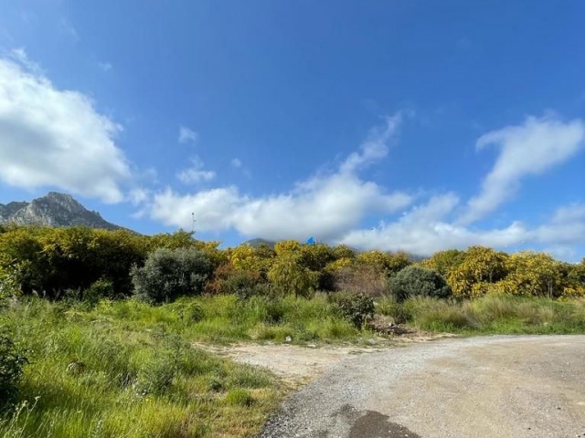
M 585 333 L 585 300 L 537 297 L 482 297 L 472 301 L 410 298 L 378 302 L 378 313 L 414 328 L 480 334 Z

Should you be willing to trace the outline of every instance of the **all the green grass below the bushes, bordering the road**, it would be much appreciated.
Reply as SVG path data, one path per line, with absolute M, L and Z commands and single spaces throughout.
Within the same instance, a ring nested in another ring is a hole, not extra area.
M 380 298 L 376 309 L 410 327 L 463 335 L 585 333 L 585 300 Z M 0 416 L 0 438 L 250 436 L 287 388 L 194 342 L 358 342 L 372 335 L 319 294 L 197 297 L 158 307 L 106 300 L 94 308 L 27 298 L 2 311 L 30 364 L 16 410 Z

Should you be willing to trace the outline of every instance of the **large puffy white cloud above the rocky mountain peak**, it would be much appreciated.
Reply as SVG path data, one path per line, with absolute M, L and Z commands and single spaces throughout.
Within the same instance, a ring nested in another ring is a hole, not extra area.
M 4 183 L 25 189 L 57 187 L 120 202 L 120 184 L 131 174 L 113 141 L 121 129 L 82 93 L 55 88 L 23 49 L 12 58 L 0 58 Z

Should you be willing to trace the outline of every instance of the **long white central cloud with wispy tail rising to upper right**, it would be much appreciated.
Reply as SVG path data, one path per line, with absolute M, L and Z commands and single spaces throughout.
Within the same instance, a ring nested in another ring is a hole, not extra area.
M 388 193 L 376 183 L 356 176 L 357 169 L 381 158 L 385 142 L 395 132 L 399 117 L 389 118 L 378 137 L 372 134 L 337 172 L 314 176 L 297 183 L 288 193 L 262 197 L 242 195 L 236 187 L 223 187 L 194 194 L 167 189 L 154 195 L 150 204 L 154 219 L 188 228 L 191 213 L 197 228 L 218 231 L 233 228 L 243 235 L 266 238 L 328 239 L 343 235 L 368 213 L 391 214 L 410 205 L 410 194 Z M 376 151 L 375 151 L 376 150 Z

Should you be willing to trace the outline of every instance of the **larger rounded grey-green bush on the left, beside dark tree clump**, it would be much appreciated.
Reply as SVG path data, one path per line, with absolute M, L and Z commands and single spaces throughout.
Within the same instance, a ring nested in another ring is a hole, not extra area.
M 134 292 L 145 301 L 163 303 L 200 295 L 213 266 L 207 255 L 191 248 L 159 248 L 144 266 L 131 270 Z

